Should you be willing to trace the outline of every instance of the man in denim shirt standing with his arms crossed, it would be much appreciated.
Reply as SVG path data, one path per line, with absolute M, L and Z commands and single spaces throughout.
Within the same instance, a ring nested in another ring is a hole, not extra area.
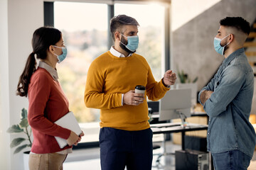
M 241 17 L 220 21 L 214 47 L 225 60 L 198 96 L 209 116 L 207 147 L 217 170 L 247 169 L 255 149 L 249 122 L 254 75 L 242 48 L 249 33 L 250 23 Z

